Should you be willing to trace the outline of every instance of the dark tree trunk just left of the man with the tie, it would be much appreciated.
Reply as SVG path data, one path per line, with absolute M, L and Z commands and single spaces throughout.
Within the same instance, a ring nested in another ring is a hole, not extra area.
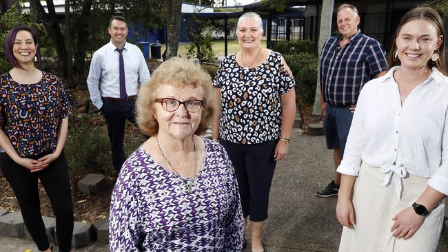
M 77 19 L 77 46 L 74 51 L 74 69 L 78 76 L 83 76 L 85 72 L 85 53 L 87 52 L 89 37 L 88 34 L 90 9 L 92 8 L 92 0 L 84 0 L 83 9 L 81 10 L 81 17 Z

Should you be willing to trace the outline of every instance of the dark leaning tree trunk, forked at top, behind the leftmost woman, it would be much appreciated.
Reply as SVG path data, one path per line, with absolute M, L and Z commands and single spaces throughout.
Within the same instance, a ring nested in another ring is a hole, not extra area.
M 41 2 L 39 0 L 31 0 L 30 6 L 36 8 L 34 11 L 37 13 L 37 19 L 45 25 L 45 28 L 50 35 L 54 43 L 54 48 L 59 57 L 59 63 L 61 65 L 60 71 L 63 76 L 67 76 L 67 51 L 65 51 L 65 42 L 61 33 L 61 28 L 59 28 L 59 22 L 56 17 L 56 12 L 54 11 L 53 0 L 46 0 L 48 14 L 43 9 Z

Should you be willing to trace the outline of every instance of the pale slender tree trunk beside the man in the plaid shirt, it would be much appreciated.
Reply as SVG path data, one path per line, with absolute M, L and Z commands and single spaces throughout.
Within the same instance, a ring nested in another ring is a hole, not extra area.
M 326 0 L 322 3 L 322 10 L 320 10 L 320 32 L 319 32 L 319 44 L 318 44 L 318 58 L 322 53 L 323 44 L 331 34 L 332 30 L 332 18 L 333 18 L 333 6 L 334 0 Z M 317 72 L 319 73 L 320 61 L 318 61 Z M 313 114 L 320 115 L 322 110 L 320 109 L 320 74 L 317 74 L 317 87 L 316 96 L 314 97 Z

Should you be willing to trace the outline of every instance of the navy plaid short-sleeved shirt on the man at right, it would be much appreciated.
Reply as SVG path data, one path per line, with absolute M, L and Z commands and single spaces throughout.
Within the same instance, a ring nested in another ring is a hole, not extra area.
M 361 88 L 387 70 L 385 52 L 378 41 L 358 30 L 341 48 L 340 36 L 325 42 L 320 55 L 320 92 L 325 103 L 355 105 Z

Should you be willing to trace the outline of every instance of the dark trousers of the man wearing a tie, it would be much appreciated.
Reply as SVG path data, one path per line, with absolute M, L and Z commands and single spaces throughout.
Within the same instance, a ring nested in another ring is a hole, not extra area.
M 108 125 L 112 164 L 118 176 L 121 166 L 126 160 L 123 138 L 125 137 L 126 119 L 136 125 L 135 99 L 128 101 L 110 101 L 103 99 L 101 114 Z

